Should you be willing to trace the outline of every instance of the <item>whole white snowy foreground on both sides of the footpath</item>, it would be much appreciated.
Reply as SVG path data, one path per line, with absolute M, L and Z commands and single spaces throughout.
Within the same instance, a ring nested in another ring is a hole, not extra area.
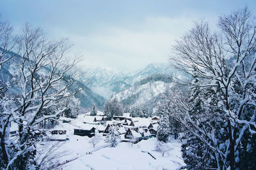
M 80 117 L 80 116 L 79 116 Z M 72 120 L 71 123 L 60 123 L 57 129 L 65 128 L 65 135 L 69 140 L 63 142 L 43 142 L 38 144 L 38 150 L 47 151 L 52 145 L 54 158 L 51 164 L 58 166 L 59 163 L 67 163 L 56 169 L 177 169 L 184 166 L 181 157 L 180 143 L 178 140 L 170 141 L 171 150 L 164 153 L 156 151 L 156 137 L 140 141 L 137 144 L 119 143 L 116 148 L 111 148 L 101 137 L 99 143 L 93 148 L 91 138 L 74 135 L 74 128 L 81 127 L 83 118 Z M 40 149 L 39 149 L 40 148 Z M 92 152 L 92 154 L 86 154 Z M 149 152 L 153 157 L 151 157 Z

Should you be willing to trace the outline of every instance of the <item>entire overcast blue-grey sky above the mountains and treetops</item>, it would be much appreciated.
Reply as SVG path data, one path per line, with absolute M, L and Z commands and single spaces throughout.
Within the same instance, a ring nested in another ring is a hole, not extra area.
M 81 65 L 132 71 L 167 63 L 175 40 L 201 19 L 216 26 L 218 16 L 256 1 L 1 1 L 2 20 L 42 27 L 47 36 L 69 38 Z

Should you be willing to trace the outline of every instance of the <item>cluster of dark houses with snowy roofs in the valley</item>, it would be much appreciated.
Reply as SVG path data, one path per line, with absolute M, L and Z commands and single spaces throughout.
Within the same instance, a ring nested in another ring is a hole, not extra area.
M 83 117 L 83 129 L 74 129 L 74 135 L 92 137 L 95 133 L 108 135 L 110 127 L 116 127 L 123 141 L 131 141 L 141 137 L 156 136 L 159 118 L 132 118 L 129 113 L 113 116 L 107 121 L 104 116 Z

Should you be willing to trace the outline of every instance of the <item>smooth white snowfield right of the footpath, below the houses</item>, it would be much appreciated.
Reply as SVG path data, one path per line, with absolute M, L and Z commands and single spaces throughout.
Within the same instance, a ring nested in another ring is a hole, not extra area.
M 60 166 L 60 169 L 177 169 L 184 165 L 180 153 L 180 143 L 172 141 L 173 149 L 165 153 L 164 157 L 161 153 L 154 151 L 155 143 L 156 137 L 133 145 L 119 143 L 116 148 L 109 146 L 94 151 L 91 155 L 83 155 Z M 81 154 L 81 149 L 77 149 L 77 152 Z M 150 152 L 156 159 L 142 151 Z M 82 153 L 85 152 L 84 149 Z

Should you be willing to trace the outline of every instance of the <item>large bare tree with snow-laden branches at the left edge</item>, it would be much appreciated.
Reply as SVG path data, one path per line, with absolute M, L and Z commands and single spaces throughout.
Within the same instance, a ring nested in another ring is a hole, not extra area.
M 74 96 L 67 89 L 74 84 L 71 63 L 65 59 L 68 46 L 65 40 L 52 42 L 41 29 L 28 24 L 19 37 L 19 55 L 12 61 L 13 82 L 17 91 L 1 104 L 1 162 L 6 169 L 28 169 L 36 166 L 35 130 L 44 120 L 56 119 L 65 111 L 59 105 L 64 98 Z M 54 112 L 42 114 L 45 109 Z M 4 119 L 2 119 L 4 118 Z M 2 121 L 4 120 L 4 121 Z M 19 125 L 17 139 L 11 140 L 10 122 Z

